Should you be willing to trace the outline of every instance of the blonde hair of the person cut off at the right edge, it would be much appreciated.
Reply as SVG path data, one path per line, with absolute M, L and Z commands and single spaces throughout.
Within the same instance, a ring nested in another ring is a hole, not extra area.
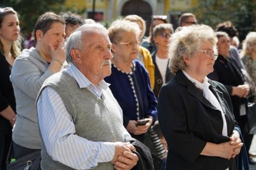
M 256 32 L 250 32 L 246 35 L 246 39 L 243 42 L 243 48 L 241 56 L 250 55 L 253 50 L 253 46 L 256 43 Z

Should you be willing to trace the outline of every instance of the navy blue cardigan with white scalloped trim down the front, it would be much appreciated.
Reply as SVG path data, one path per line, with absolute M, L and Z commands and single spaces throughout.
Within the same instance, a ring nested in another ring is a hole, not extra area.
M 141 100 L 139 100 L 138 88 L 136 87 L 134 76 L 131 74 L 132 81 L 135 86 L 135 92 L 139 101 L 139 119 L 152 116 L 154 123 L 157 118 L 157 101 L 150 87 L 148 72 L 137 59 L 133 61 L 133 65 L 135 65 L 135 74 L 143 100 L 144 113 L 142 113 L 141 109 L 142 105 Z M 129 74 L 118 70 L 113 64 L 111 70 L 112 74 L 104 78 L 104 80 L 111 84 L 109 88 L 111 89 L 115 99 L 117 99 L 120 107 L 123 110 L 124 126 L 126 127 L 129 120 L 137 120 L 136 100 L 132 92 L 133 89 L 131 83 L 129 81 Z

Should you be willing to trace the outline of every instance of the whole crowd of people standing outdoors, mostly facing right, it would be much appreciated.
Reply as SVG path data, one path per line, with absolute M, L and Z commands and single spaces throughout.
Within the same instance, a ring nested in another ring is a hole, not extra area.
M 134 169 L 141 155 L 154 169 L 153 153 L 161 169 L 235 170 L 243 145 L 255 163 L 256 32 L 238 50 L 231 22 L 191 13 L 145 32 L 138 15 L 106 28 L 46 12 L 22 48 L 18 14 L 0 8 L 0 169 L 40 151 L 41 169 Z

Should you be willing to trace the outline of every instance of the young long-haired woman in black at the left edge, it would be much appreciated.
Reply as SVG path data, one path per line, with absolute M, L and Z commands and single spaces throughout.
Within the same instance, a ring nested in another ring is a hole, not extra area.
M 13 8 L 0 8 L 0 169 L 11 142 L 11 129 L 15 124 L 15 98 L 9 76 L 15 58 L 20 53 L 20 26 Z

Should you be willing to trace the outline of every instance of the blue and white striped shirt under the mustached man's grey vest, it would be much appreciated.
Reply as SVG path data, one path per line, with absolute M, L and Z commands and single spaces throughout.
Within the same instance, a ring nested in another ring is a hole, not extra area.
M 64 71 L 74 77 L 80 88 L 88 88 L 98 98 L 101 98 L 103 90 L 109 86 L 102 80 L 95 87 L 73 64 Z M 37 102 L 37 110 L 45 148 L 53 160 L 74 169 L 91 169 L 98 162 L 109 162 L 113 159 L 114 143 L 89 141 L 75 135 L 72 117 L 53 88 L 46 87 L 43 90 Z M 123 117 L 120 106 L 119 111 Z M 130 136 L 125 127 L 123 130 L 125 137 Z

